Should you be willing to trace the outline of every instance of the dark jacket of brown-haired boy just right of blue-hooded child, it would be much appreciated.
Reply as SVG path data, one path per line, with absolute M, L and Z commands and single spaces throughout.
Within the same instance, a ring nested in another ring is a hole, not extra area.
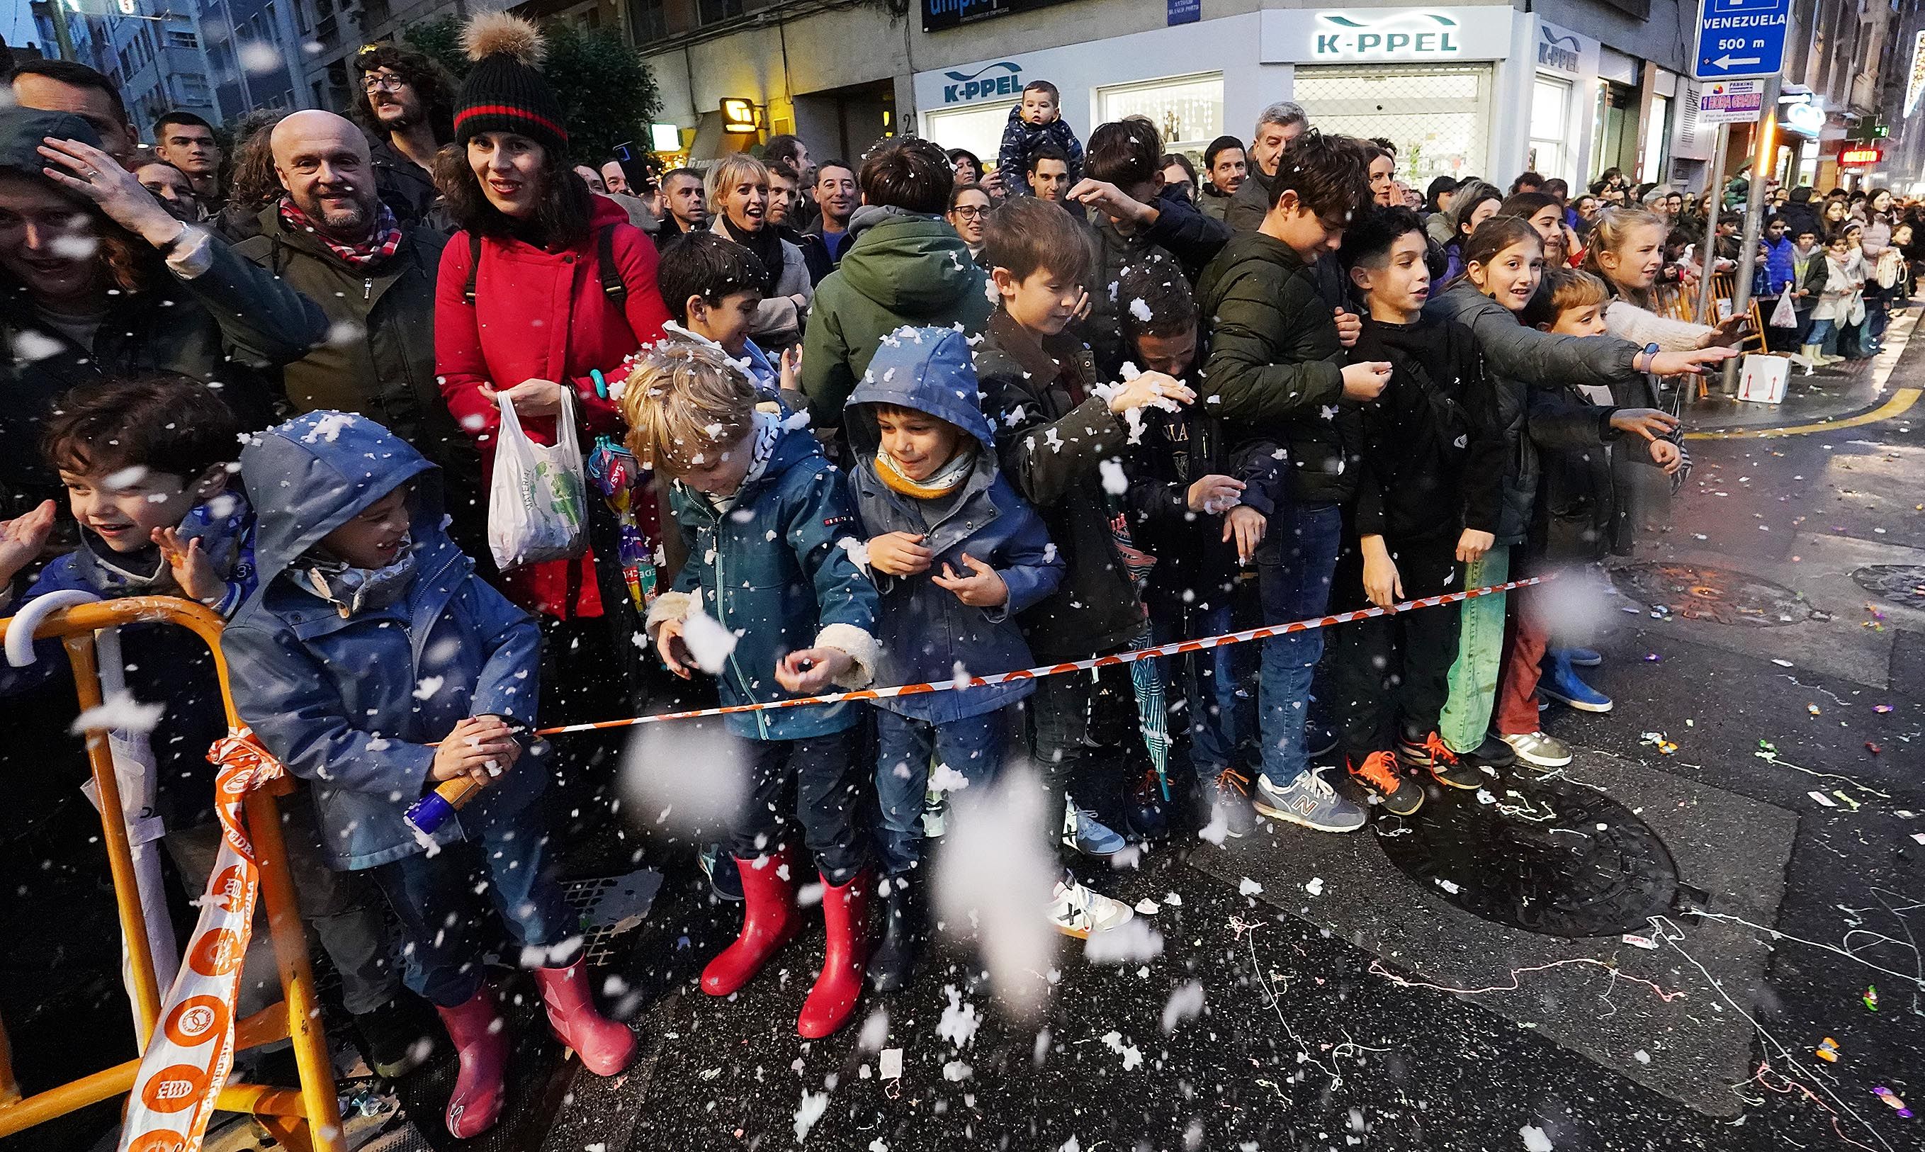
M 1068 333 L 1038 341 L 997 312 L 976 345 L 976 378 L 1003 476 L 1065 563 L 1057 593 L 1022 615 L 1030 651 L 1053 663 L 1120 649 L 1142 634 L 1143 607 L 1111 532 L 1124 493 L 1105 487 L 1103 464 L 1122 466 L 1130 428 L 1091 391 L 1090 349 Z

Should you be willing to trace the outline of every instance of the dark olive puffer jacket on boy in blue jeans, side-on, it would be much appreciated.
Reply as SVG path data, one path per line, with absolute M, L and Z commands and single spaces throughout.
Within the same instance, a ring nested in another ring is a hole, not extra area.
M 1363 437 L 1315 270 L 1274 237 L 1238 235 L 1203 270 L 1197 312 L 1211 318 L 1205 412 L 1232 443 L 1276 441 L 1296 503 L 1349 501 Z

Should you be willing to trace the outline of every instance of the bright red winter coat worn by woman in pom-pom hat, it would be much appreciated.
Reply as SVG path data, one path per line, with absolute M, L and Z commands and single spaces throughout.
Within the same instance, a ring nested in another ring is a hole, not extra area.
M 622 414 L 595 395 L 591 368 L 622 380 L 622 358 L 660 339 L 668 308 L 654 287 L 654 245 L 628 223 L 614 200 L 595 196 L 595 227 L 614 227 L 614 260 L 628 285 L 622 308 L 603 293 L 595 235 L 549 252 L 522 241 L 481 239 L 475 302 L 464 299 L 470 268 L 468 233 L 454 233 L 441 252 L 435 287 L 435 372 L 449 410 L 475 437 L 485 478 L 495 470 L 500 408 L 481 385 L 506 389 L 524 380 L 554 380 L 576 389 L 583 420 L 581 447 L 597 433 L 620 433 Z M 554 443 L 554 418 L 524 420 L 537 443 Z M 508 597 L 549 616 L 599 616 L 593 555 L 516 568 L 502 578 Z M 576 588 L 570 597 L 570 586 Z

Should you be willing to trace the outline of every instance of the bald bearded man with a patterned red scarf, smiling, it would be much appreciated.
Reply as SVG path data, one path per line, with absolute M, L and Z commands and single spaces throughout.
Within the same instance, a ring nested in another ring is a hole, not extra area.
M 235 250 L 318 302 L 329 335 L 283 370 L 296 412 L 360 412 L 441 464 L 449 536 L 487 563 L 481 457 L 435 383 L 435 277 L 447 237 L 375 195 L 368 139 L 333 112 L 273 125 L 285 195 Z

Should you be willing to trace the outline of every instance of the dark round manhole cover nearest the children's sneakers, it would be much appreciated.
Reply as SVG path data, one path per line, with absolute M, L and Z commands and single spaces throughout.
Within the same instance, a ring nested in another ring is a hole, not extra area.
M 1596 788 L 1505 772 L 1480 792 L 1432 788 L 1423 811 L 1378 817 L 1413 880 L 1486 921 L 1544 936 L 1640 930 L 1677 894 L 1671 851 Z

